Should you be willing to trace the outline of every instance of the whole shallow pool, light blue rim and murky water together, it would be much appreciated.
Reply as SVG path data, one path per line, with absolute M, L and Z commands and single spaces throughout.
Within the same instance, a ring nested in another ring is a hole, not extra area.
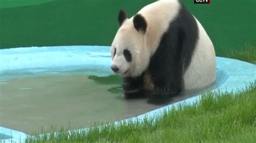
M 0 126 L 5 129 L 30 134 L 50 125 L 85 128 L 163 109 L 146 99 L 124 99 L 122 79 L 110 69 L 109 47 L 14 48 L 0 50 L 0 56 Z M 250 63 L 217 58 L 217 80 L 207 90 L 244 87 L 256 79 L 252 69 Z M 184 92 L 170 104 L 205 91 Z

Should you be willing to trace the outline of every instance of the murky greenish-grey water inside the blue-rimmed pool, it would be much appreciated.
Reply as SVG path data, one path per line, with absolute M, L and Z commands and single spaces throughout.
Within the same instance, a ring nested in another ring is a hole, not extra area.
M 0 126 L 28 134 L 51 125 L 84 128 L 135 117 L 164 106 L 148 104 L 146 99 L 126 100 L 118 75 L 97 76 L 92 74 L 95 72 L 33 70 L 33 74 L 23 73 L 20 77 L 15 76 L 15 71 L 2 73 L 5 78 L 0 78 Z M 225 78 L 225 72 L 218 69 L 218 80 L 210 88 L 217 88 Z M 199 92 L 184 93 L 174 97 L 171 103 Z

